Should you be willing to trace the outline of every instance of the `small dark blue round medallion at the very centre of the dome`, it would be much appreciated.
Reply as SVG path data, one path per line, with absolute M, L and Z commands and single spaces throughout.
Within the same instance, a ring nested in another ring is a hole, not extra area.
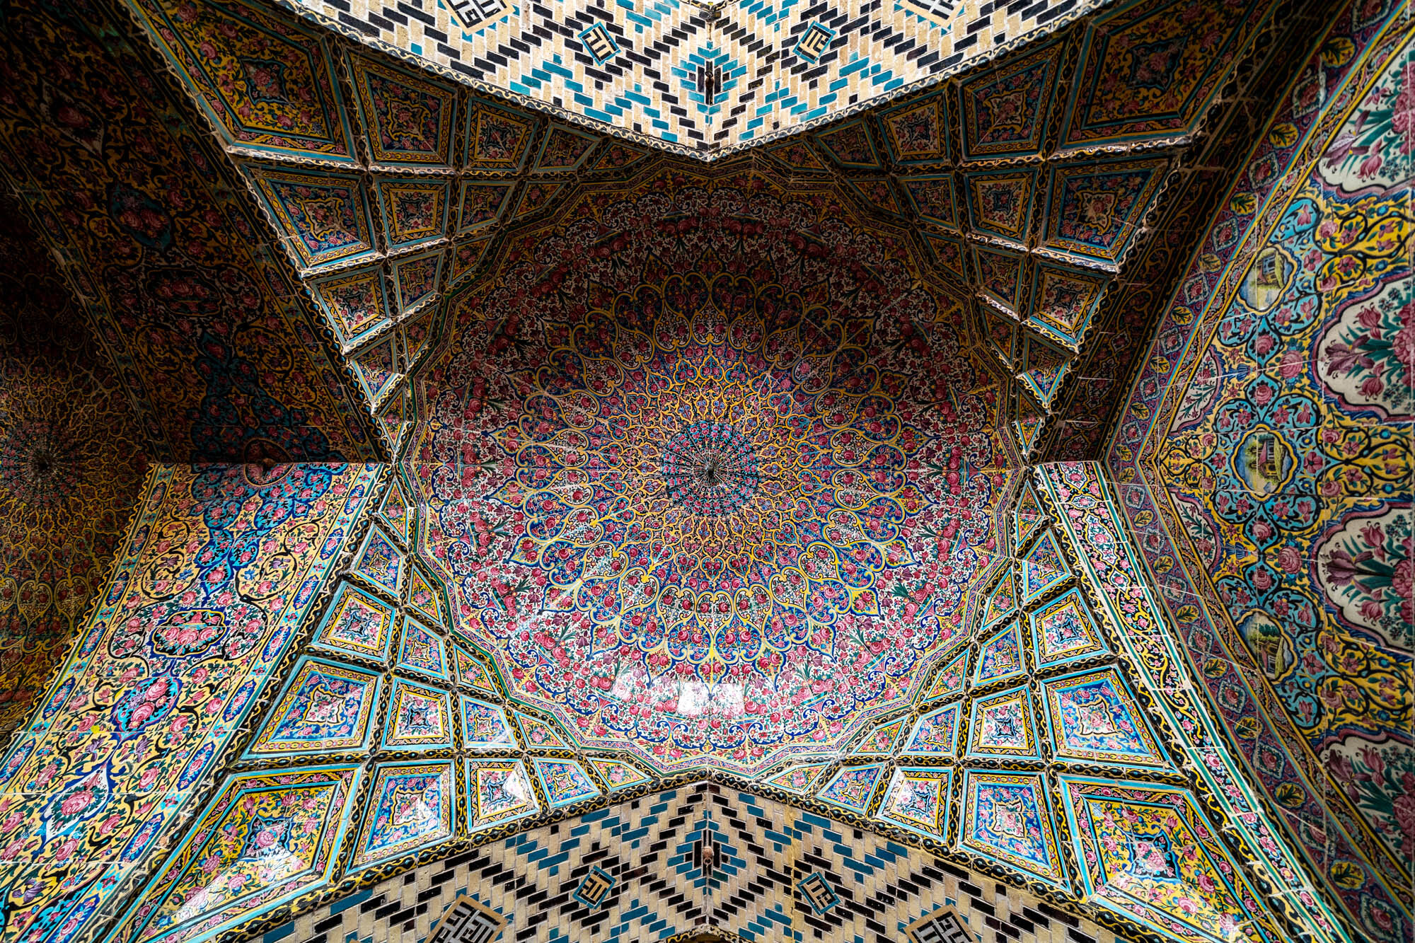
M 695 422 L 664 446 L 668 500 L 689 514 L 722 517 L 751 500 L 761 484 L 757 456 L 740 432 Z

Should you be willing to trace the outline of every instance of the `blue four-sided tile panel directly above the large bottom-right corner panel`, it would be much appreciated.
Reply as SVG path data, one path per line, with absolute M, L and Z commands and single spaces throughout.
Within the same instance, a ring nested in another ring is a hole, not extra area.
M 1044 681 L 1051 746 L 1061 759 L 1167 766 L 1129 685 L 1115 668 Z

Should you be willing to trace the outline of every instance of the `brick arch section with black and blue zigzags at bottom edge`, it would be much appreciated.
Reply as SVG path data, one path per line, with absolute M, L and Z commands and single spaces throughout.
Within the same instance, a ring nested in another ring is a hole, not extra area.
M 706 855 L 703 848 L 710 848 Z M 616 884 L 589 908 L 574 891 L 600 868 Z M 797 884 L 819 872 L 839 903 L 818 916 Z M 423 940 L 463 895 L 498 912 L 501 943 L 729 940 L 899 943 L 955 906 L 985 943 L 1118 937 L 1026 891 L 808 811 L 695 783 L 434 861 L 301 915 L 265 939 Z

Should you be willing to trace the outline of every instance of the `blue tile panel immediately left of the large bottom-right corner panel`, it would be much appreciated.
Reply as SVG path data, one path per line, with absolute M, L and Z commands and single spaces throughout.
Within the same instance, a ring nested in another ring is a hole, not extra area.
M 1047 786 L 1036 773 L 965 770 L 958 845 L 1044 884 L 1067 888 Z

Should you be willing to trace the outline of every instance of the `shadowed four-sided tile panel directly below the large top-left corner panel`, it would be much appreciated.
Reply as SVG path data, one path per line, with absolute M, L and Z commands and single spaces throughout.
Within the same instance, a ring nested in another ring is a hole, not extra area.
M 300 268 L 318 269 L 374 255 L 368 200 L 358 177 L 260 164 L 245 164 L 242 170 Z

